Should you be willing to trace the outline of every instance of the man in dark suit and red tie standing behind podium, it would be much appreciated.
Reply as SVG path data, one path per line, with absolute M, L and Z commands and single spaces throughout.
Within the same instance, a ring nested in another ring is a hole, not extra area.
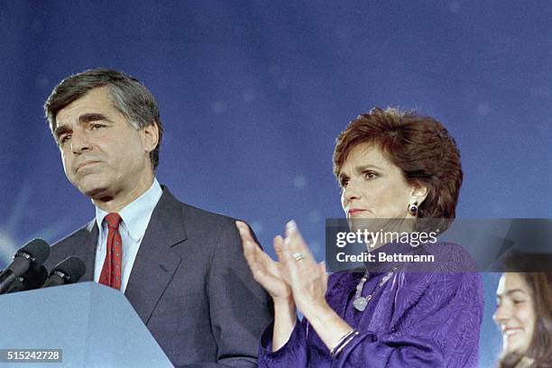
M 234 220 L 179 202 L 155 178 L 162 125 L 150 91 L 92 69 L 62 80 L 44 108 L 67 178 L 96 207 L 46 266 L 81 257 L 81 281 L 124 292 L 175 365 L 255 366 L 269 298 Z

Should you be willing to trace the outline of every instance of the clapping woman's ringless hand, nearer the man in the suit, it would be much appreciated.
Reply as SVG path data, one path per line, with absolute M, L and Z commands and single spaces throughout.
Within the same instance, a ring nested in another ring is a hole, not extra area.
M 285 258 L 282 256 L 282 237 L 274 238 L 274 252 L 279 261 L 274 262 L 267 253 L 262 252 L 261 246 L 251 235 L 248 225 L 241 221 L 236 221 L 235 225 L 240 232 L 244 256 L 253 273 L 253 279 L 271 294 L 274 304 L 293 304 L 288 272 L 283 263 Z

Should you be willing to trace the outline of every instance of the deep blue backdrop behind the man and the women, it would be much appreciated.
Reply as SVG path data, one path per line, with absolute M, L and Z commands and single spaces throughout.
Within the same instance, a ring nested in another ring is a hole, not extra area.
M 249 221 L 265 248 L 290 218 L 317 258 L 343 216 L 337 133 L 373 106 L 418 108 L 455 136 L 459 217 L 551 217 L 552 4 L 514 1 L 0 4 L 0 264 L 94 209 L 65 179 L 41 105 L 95 67 L 143 80 L 166 135 L 158 178 Z M 500 351 L 485 276 L 482 366 Z

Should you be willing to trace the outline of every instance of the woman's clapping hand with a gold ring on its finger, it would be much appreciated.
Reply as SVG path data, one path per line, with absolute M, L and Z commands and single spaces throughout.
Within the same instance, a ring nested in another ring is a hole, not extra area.
M 287 258 L 290 287 L 297 308 L 307 318 L 313 314 L 324 313 L 330 308 L 325 299 L 326 264 L 316 262 L 294 221 L 286 224 L 282 253 Z

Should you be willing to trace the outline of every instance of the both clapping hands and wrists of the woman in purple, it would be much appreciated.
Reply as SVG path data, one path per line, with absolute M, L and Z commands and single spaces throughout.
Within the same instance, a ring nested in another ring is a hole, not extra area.
M 290 340 L 297 320 L 296 305 L 328 349 L 336 346 L 339 338 L 351 331 L 351 327 L 327 305 L 326 266 L 324 263 L 317 264 L 295 222 L 290 221 L 286 225 L 285 241 L 281 236 L 274 238 L 278 262 L 262 252 L 249 226 L 240 221 L 235 224 L 242 237 L 245 259 L 253 278 L 274 300 L 272 351 L 281 349 Z

